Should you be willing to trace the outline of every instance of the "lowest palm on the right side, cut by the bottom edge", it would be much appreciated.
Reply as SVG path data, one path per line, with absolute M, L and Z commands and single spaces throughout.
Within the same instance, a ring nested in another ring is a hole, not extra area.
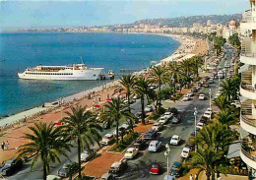
M 201 146 L 198 147 L 196 152 L 192 152 L 192 158 L 187 162 L 189 168 L 198 169 L 197 177 L 202 171 L 206 172 L 207 180 L 215 176 L 215 164 L 221 160 L 222 151 L 213 149 L 205 149 Z

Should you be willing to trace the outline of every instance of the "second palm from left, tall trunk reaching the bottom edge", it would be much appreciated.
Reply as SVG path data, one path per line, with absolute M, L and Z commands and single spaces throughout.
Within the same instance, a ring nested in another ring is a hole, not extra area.
M 102 131 L 102 127 L 96 121 L 96 116 L 86 109 L 87 106 L 71 107 L 72 112 L 66 112 L 68 116 L 61 120 L 68 137 L 77 142 L 79 178 L 82 178 L 81 150 L 90 149 L 90 146 L 94 146 L 95 143 L 99 145 L 101 137 L 98 131 Z

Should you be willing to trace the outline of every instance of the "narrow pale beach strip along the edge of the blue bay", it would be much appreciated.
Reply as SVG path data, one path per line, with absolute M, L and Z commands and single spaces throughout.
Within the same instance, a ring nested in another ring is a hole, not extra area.
M 129 33 L 124 33 L 124 34 L 129 34 Z M 138 33 L 138 34 L 166 36 L 166 37 L 172 38 L 175 41 L 178 41 L 180 43 L 178 48 L 172 54 L 170 54 L 167 57 L 171 57 L 175 53 L 180 51 L 180 49 L 184 45 L 183 44 L 184 41 L 182 39 L 188 37 L 187 35 L 176 35 L 176 34 L 165 34 L 165 33 Z M 163 60 L 163 59 L 161 59 L 161 60 Z M 159 64 L 161 63 L 161 60 L 160 60 Z M 118 80 L 119 80 L 119 78 L 116 79 L 116 80 L 113 80 L 111 82 L 108 82 L 106 84 L 101 84 L 100 86 L 97 86 L 97 87 L 95 87 L 93 89 L 90 89 L 90 90 L 83 90 L 83 91 L 79 91 L 79 92 L 71 94 L 71 95 L 67 95 L 67 96 L 63 97 L 63 101 L 65 103 L 68 103 L 68 104 L 70 104 L 70 103 L 72 104 L 72 103 L 74 103 L 74 101 L 81 101 L 81 100 L 87 98 L 87 95 L 92 93 L 93 91 L 95 91 L 96 93 L 97 92 L 100 93 L 100 91 L 104 90 L 103 86 L 105 86 L 105 89 L 114 87 L 118 83 Z M 56 98 L 52 101 L 57 101 L 58 99 L 59 98 Z M 44 103 L 45 102 L 43 102 L 43 104 Z M 31 119 L 31 118 L 35 119 L 40 114 L 48 113 L 49 111 L 54 111 L 58 107 L 59 106 L 56 106 L 56 107 L 42 107 L 41 105 L 37 105 L 37 106 L 34 106 L 32 108 L 29 108 L 29 109 L 27 108 L 26 110 L 21 110 L 20 112 L 15 113 L 14 115 L 11 115 L 9 117 L 5 117 L 5 118 L 0 119 L 0 128 L 6 128 L 7 126 L 13 126 L 15 124 L 19 124 L 19 123 L 25 121 L 27 118 L 28 119 Z

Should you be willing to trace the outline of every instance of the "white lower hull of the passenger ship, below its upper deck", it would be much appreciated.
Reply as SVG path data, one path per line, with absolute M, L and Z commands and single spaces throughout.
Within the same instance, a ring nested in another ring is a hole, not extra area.
M 72 72 L 72 75 L 50 75 L 51 73 L 40 73 L 38 72 L 24 72 L 18 73 L 20 79 L 26 80 L 57 80 L 57 81 L 78 81 L 78 80 L 92 80 L 95 81 L 98 78 L 99 73 L 103 68 L 92 68 L 89 70 L 82 70 Z

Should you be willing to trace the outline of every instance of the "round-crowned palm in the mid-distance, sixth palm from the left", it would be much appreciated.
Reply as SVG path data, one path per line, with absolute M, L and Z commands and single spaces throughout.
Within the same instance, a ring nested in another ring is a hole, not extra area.
M 151 69 L 150 75 L 151 75 L 151 78 L 152 78 L 153 82 L 156 82 L 156 83 L 159 84 L 159 90 L 161 88 L 161 85 L 163 85 L 166 82 L 169 82 L 169 80 L 170 80 L 168 71 L 163 66 L 154 66 Z M 159 108 L 159 111 L 160 111 L 161 103 L 158 103 L 158 104 L 159 104 L 158 108 Z

